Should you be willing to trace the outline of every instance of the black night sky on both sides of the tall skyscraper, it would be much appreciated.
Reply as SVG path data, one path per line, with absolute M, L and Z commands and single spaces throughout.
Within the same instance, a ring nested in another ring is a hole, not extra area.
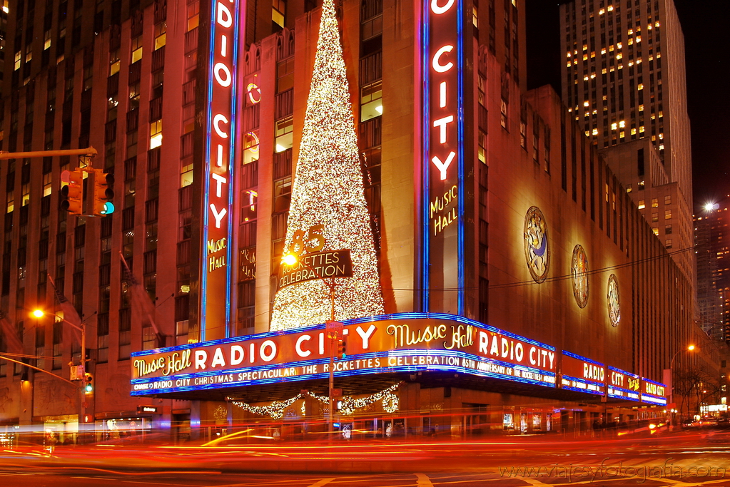
M 561 93 L 558 5 L 526 0 L 529 88 Z M 685 35 L 687 106 L 692 130 L 695 211 L 730 194 L 729 0 L 675 0 Z

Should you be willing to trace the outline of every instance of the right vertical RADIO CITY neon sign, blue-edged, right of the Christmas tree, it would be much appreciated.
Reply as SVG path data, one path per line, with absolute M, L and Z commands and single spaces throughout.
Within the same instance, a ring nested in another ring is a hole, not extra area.
M 421 298 L 423 311 L 463 314 L 464 0 L 423 2 Z

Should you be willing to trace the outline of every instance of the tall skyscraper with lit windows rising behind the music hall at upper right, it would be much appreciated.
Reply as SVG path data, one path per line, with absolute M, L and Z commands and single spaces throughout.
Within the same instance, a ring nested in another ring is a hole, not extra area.
M 560 18 L 564 103 L 693 279 L 684 37 L 673 1 L 576 0 Z M 651 144 L 609 149 L 641 139 Z

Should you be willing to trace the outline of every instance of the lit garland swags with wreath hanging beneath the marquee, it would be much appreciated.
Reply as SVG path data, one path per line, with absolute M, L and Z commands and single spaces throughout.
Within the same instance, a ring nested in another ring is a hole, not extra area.
M 361 397 L 360 399 L 354 399 L 350 396 L 342 397 L 339 400 L 339 413 L 341 413 L 342 416 L 350 416 L 355 413 L 356 409 L 364 408 L 365 406 L 371 405 L 373 402 L 377 401 L 383 401 L 383 410 L 385 410 L 386 413 L 395 413 L 399 408 L 400 401 L 398 396 L 393 394 L 393 391 L 398 389 L 400 385 L 401 382 L 393 384 L 388 387 L 388 389 L 383 389 L 380 392 L 376 392 L 368 397 Z M 260 416 L 269 415 L 272 419 L 277 420 L 284 417 L 284 410 L 286 408 L 293 405 L 294 402 L 304 399 L 304 396 L 309 396 L 319 402 L 329 404 L 328 396 L 318 396 L 317 394 L 312 394 L 310 391 L 300 392 L 299 394 L 296 394 L 296 396 L 290 397 L 285 401 L 274 401 L 268 406 L 252 406 L 247 402 L 231 400 L 230 397 L 228 397 L 228 400 L 249 413 L 258 414 Z M 304 414 L 304 402 L 301 404 L 301 413 L 302 415 Z

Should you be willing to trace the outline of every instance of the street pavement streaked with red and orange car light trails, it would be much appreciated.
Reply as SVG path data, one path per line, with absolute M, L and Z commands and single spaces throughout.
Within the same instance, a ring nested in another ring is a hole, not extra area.
M 0 486 L 729 486 L 730 432 L 0 453 Z

